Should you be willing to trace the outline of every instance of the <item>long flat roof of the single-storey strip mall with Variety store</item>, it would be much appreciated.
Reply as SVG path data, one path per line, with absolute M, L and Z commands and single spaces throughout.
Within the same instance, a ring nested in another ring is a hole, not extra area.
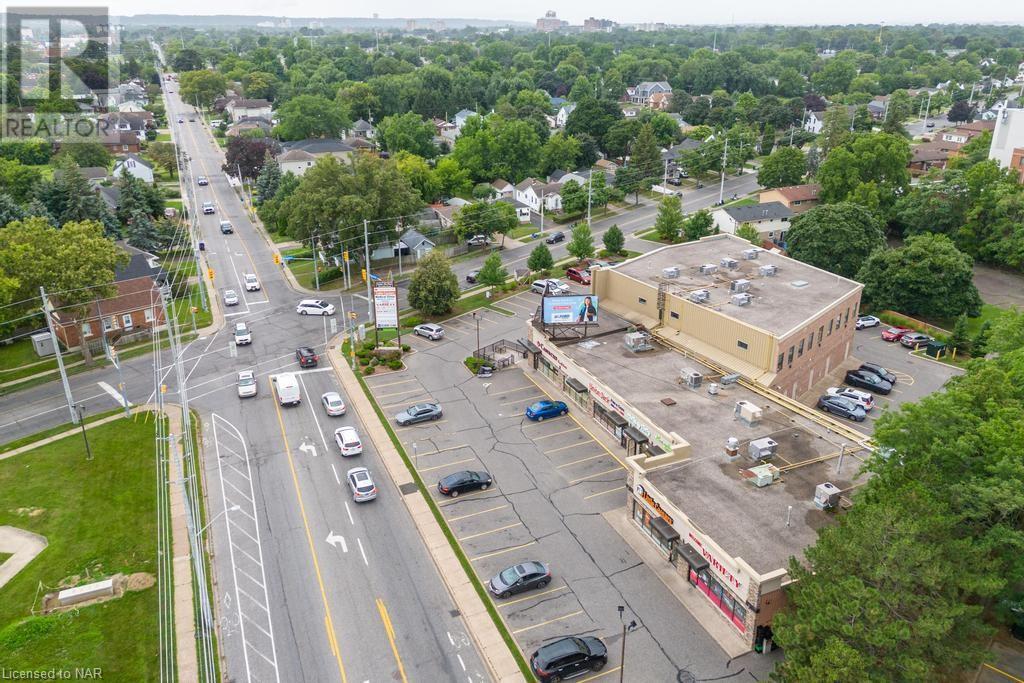
M 602 328 L 627 324 L 607 311 L 601 315 Z M 717 395 L 711 395 L 707 390 L 714 379 L 711 370 L 656 342 L 653 345 L 652 351 L 633 353 L 623 344 L 623 335 L 613 334 L 559 350 L 656 426 L 689 441 L 689 460 L 654 469 L 647 478 L 697 528 L 759 573 L 786 568 L 790 557 L 802 558 L 804 549 L 816 541 L 817 529 L 836 518 L 815 507 L 815 486 L 828 481 L 845 490 L 863 480 L 858 476 L 860 460 L 850 455 L 850 449 L 839 474 L 838 458 L 830 458 L 784 470 L 774 483 L 758 488 L 742 475 L 761 464 L 746 455 L 751 440 L 770 436 L 777 441 L 777 456 L 769 462 L 780 468 L 838 454 L 844 440 L 738 384 L 720 387 Z M 684 368 L 703 373 L 703 385 L 690 389 L 679 384 L 676 378 Z M 672 398 L 675 404 L 666 405 L 663 398 Z M 760 424 L 750 427 L 734 417 L 737 400 L 762 408 Z M 725 455 L 730 436 L 739 439 L 739 458 L 732 462 Z

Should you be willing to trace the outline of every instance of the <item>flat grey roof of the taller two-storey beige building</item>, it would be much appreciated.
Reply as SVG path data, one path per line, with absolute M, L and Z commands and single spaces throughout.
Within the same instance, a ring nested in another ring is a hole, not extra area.
M 711 298 L 703 305 L 779 337 L 861 287 L 852 280 L 764 249 L 759 250 L 756 259 L 746 260 L 743 252 L 749 249 L 755 247 L 742 238 L 713 234 L 655 249 L 616 266 L 615 270 L 654 287 L 665 283 L 670 293 L 681 298 L 706 289 Z M 725 257 L 736 260 L 734 269 L 722 265 Z M 717 266 L 716 272 L 702 274 L 700 266 L 706 263 Z M 774 265 L 776 274 L 761 275 L 762 265 Z M 679 268 L 679 276 L 665 278 L 664 269 L 673 266 Z M 734 293 L 729 287 L 736 280 L 751 283 L 748 292 L 754 299 L 745 306 L 732 303 Z

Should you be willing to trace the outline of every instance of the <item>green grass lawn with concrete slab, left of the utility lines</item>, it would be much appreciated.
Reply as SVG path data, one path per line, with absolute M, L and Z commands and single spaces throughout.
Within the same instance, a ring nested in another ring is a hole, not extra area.
M 159 678 L 156 587 L 75 611 L 31 613 L 40 583 L 54 590 L 118 572 L 156 578 L 153 433 L 152 420 L 118 420 L 89 430 L 91 461 L 79 434 L 0 461 L 0 524 L 49 543 L 0 589 L 5 668 L 100 667 L 104 680 Z

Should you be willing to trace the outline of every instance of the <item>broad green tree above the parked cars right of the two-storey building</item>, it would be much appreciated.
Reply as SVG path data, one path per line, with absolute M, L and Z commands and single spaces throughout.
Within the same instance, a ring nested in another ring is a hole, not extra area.
M 796 227 L 786 236 L 791 246 Z M 838 243 L 841 238 L 833 240 Z M 938 318 L 978 315 L 981 297 L 974 286 L 973 265 L 946 236 L 918 234 L 897 249 L 877 250 L 864 261 L 857 280 L 864 284 L 863 300 L 871 308 Z

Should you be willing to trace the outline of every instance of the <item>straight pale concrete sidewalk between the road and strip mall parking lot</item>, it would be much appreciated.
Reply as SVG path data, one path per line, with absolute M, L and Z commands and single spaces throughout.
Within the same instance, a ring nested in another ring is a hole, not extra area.
M 413 475 L 395 450 L 387 430 L 377 418 L 370 399 L 367 398 L 358 380 L 342 356 L 341 340 L 342 337 L 335 337 L 328 346 L 328 357 L 331 359 L 331 365 L 345 389 L 349 407 L 362 418 L 362 424 L 366 426 L 370 439 L 377 447 L 377 453 L 380 454 L 388 475 L 403 494 L 402 501 L 409 509 L 420 538 L 427 546 L 449 593 L 455 600 L 459 611 L 462 612 L 467 632 L 476 644 L 480 657 L 496 681 L 500 683 L 522 681 L 522 673 L 509 651 L 508 645 L 502 639 L 502 635 L 490 618 L 490 614 L 487 613 L 483 601 L 463 570 L 462 564 L 459 563 L 459 558 L 456 557 L 455 551 L 434 518 L 430 507 L 420 495 Z

